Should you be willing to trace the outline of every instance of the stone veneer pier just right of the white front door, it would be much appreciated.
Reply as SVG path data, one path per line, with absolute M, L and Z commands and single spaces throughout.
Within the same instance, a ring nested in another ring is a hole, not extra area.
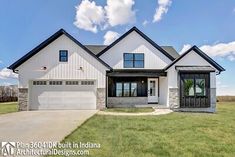
M 179 108 L 179 89 L 169 88 L 169 106 L 171 109 Z

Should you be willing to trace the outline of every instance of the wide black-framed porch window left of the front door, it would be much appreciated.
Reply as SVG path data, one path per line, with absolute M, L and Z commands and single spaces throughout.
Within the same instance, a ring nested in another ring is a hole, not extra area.
M 116 82 L 117 97 L 135 97 L 137 96 L 136 82 Z

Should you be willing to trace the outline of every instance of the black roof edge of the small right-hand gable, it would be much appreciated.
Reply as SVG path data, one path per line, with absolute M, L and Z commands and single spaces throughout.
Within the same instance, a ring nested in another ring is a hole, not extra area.
M 225 69 L 220 66 L 218 63 L 216 63 L 213 59 L 211 59 L 207 54 L 205 54 L 202 50 L 200 50 L 196 45 L 188 49 L 186 52 L 184 52 L 182 55 L 180 55 L 176 60 L 174 60 L 171 64 L 169 64 L 167 67 L 165 67 L 165 70 L 169 69 L 172 65 L 174 65 L 176 62 L 178 62 L 181 58 L 183 58 L 185 55 L 187 55 L 191 51 L 196 52 L 198 55 L 200 55 L 202 58 L 204 58 L 207 62 L 209 62 L 212 66 L 214 66 L 217 70 L 225 71 Z

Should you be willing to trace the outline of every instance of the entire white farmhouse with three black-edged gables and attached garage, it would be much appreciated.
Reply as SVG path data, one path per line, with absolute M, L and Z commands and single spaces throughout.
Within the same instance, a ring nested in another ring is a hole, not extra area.
M 82 45 L 61 29 L 13 63 L 19 109 L 157 106 L 214 112 L 224 68 L 196 46 L 179 55 L 133 27 L 109 46 Z

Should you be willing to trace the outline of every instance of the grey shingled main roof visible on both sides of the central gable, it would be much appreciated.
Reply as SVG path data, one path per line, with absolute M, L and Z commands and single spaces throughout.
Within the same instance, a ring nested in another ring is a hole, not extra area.
M 91 52 L 93 52 L 95 55 L 97 55 L 99 52 L 101 52 L 107 47 L 107 45 L 84 45 L 84 46 L 87 49 L 89 49 Z M 170 54 L 174 58 L 178 58 L 180 56 L 172 46 L 161 46 L 161 48 L 164 49 L 168 54 Z

